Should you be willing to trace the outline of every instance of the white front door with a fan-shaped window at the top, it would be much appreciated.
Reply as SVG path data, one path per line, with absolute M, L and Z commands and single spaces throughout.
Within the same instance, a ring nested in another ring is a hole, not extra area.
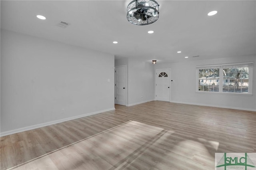
M 156 100 L 170 101 L 170 69 L 156 71 Z

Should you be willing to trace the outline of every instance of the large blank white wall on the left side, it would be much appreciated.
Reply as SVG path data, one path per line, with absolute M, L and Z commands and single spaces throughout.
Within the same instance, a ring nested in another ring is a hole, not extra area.
M 113 67 L 114 55 L 1 30 L 1 135 L 114 109 Z

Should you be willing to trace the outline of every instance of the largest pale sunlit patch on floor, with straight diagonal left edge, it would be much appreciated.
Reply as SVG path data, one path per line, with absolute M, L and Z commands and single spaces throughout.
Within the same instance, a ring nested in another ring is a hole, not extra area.
M 157 144 L 162 136 L 172 133 L 129 121 L 10 169 L 122 169 L 135 166 L 144 159 L 146 150 Z

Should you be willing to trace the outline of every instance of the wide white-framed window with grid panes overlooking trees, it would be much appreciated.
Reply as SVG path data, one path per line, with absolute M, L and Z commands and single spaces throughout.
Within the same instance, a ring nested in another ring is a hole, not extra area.
M 252 94 L 251 63 L 197 66 L 198 92 Z

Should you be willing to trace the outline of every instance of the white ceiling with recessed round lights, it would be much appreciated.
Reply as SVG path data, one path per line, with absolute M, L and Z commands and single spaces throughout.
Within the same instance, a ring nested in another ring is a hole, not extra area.
M 256 56 L 254 0 L 157 0 L 159 19 L 147 26 L 127 21 L 129 2 L 1 0 L 1 28 L 148 62 Z M 212 10 L 218 13 L 207 16 Z M 36 18 L 38 14 L 46 20 Z M 56 26 L 60 21 L 70 26 Z

